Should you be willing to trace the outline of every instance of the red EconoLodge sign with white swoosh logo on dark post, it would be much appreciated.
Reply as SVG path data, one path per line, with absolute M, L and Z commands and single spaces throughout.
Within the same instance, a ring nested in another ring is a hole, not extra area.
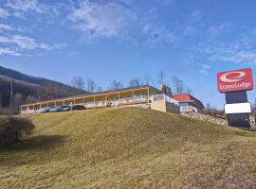
M 220 72 L 217 77 L 220 93 L 253 90 L 253 78 L 250 68 Z

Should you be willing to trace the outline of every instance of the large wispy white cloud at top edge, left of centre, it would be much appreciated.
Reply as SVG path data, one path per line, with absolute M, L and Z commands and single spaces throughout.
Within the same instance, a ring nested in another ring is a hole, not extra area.
M 98 4 L 88 0 L 73 9 L 68 18 L 87 39 L 118 36 L 137 19 L 133 12 L 117 3 Z

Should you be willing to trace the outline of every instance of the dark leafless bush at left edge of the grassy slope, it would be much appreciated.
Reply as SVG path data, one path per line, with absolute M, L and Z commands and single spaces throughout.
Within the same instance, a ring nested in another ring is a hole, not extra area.
M 0 146 L 10 146 L 31 134 L 35 126 L 27 118 L 2 116 L 0 117 Z

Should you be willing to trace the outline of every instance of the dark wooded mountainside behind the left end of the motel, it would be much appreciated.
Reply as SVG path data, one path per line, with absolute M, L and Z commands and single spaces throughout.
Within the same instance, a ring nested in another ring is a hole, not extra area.
M 75 89 L 60 82 L 41 77 L 27 76 L 0 66 L 0 106 L 9 106 L 11 78 L 14 78 L 13 93 L 16 106 L 31 101 L 86 93 L 83 90 Z

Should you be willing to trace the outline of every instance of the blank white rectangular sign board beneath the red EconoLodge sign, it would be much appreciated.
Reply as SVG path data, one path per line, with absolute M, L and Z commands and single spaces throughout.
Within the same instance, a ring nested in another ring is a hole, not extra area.
M 234 103 L 225 105 L 225 113 L 251 112 L 250 103 Z

